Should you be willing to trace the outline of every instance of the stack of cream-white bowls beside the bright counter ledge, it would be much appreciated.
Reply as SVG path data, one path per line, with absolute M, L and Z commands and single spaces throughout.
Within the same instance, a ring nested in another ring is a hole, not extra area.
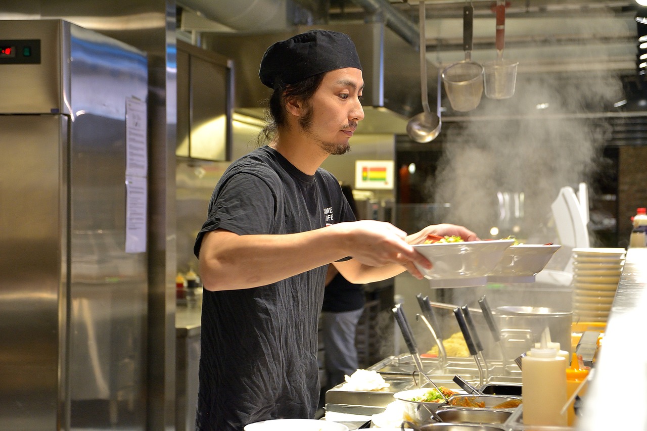
M 573 249 L 573 314 L 579 320 L 606 322 L 625 254 L 625 249 Z

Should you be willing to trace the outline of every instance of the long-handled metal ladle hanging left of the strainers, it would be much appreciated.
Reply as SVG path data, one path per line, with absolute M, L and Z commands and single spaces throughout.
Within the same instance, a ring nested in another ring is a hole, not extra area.
M 427 60 L 426 60 L 426 46 L 427 41 L 424 36 L 424 22 L 425 10 L 424 1 L 419 2 L 420 8 L 420 89 L 422 96 L 422 112 L 413 116 L 406 125 L 406 133 L 415 142 L 431 142 L 441 132 L 441 85 L 440 74 L 438 75 L 437 85 L 437 102 L 436 113 L 432 114 L 429 107 L 429 100 L 427 94 Z

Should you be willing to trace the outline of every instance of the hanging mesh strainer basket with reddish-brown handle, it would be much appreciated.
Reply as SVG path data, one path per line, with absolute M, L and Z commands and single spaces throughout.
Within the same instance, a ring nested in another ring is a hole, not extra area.
M 514 95 L 518 61 L 503 60 L 505 34 L 505 0 L 496 2 L 496 60 L 483 63 L 485 95 L 490 99 L 507 99 Z

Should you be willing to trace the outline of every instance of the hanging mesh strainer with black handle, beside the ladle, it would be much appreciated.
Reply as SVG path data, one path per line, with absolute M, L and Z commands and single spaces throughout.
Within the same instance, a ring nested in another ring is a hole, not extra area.
M 463 49 L 465 60 L 444 68 L 443 82 L 454 111 L 472 111 L 481 102 L 483 94 L 483 66 L 472 61 L 474 6 L 463 7 Z

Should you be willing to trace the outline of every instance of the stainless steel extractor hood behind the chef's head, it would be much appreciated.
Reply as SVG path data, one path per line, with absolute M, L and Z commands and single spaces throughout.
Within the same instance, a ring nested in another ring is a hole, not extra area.
M 406 133 L 406 123 L 422 111 L 419 54 L 385 23 L 297 26 L 292 30 L 263 34 L 206 33 L 205 49 L 234 60 L 236 94 L 234 108 L 245 115 L 263 118 L 263 101 L 270 89 L 258 78 L 258 67 L 265 49 L 294 34 L 322 28 L 348 34 L 357 47 L 364 78 L 366 118 L 360 123 L 362 133 Z M 413 67 L 415 66 L 415 67 Z M 433 80 L 428 85 L 435 93 L 437 68 L 428 65 Z

